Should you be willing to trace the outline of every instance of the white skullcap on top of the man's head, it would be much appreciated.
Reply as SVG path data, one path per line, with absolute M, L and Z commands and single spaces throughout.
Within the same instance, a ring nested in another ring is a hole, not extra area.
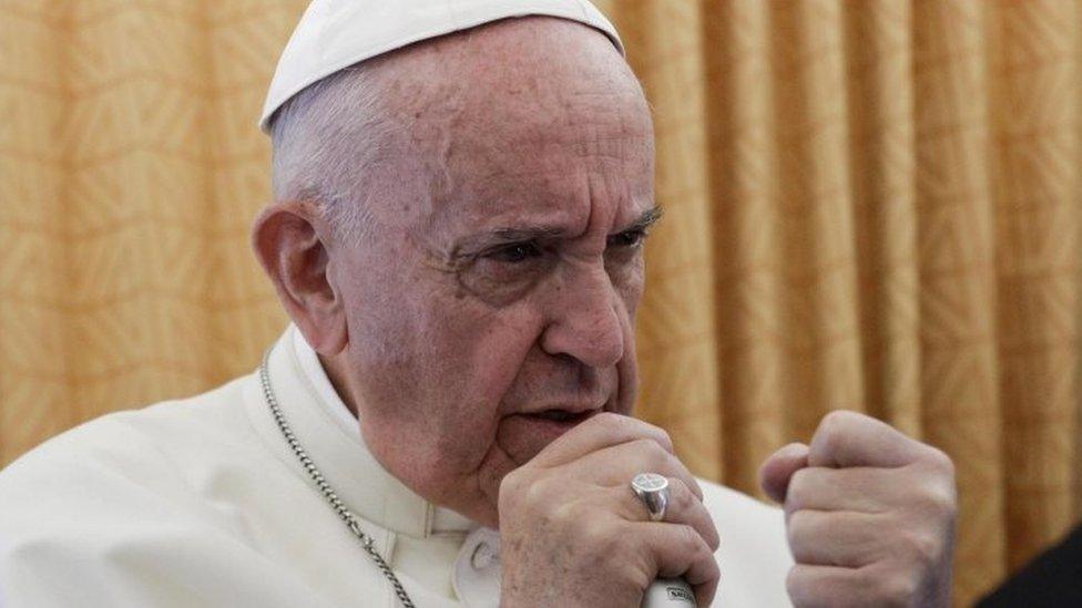
M 358 61 L 482 23 L 543 14 L 601 30 L 621 54 L 616 29 L 588 0 L 314 0 L 282 52 L 259 128 L 309 84 Z

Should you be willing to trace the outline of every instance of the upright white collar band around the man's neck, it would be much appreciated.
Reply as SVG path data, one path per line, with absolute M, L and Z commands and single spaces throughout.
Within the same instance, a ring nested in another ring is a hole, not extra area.
M 357 420 L 296 326 L 290 323 L 272 347 L 268 368 L 278 405 L 298 441 L 354 513 L 377 526 L 418 538 L 478 527 L 462 515 L 429 503 L 379 464 L 361 440 Z M 279 457 L 292 461 L 304 474 L 257 391 L 248 395 L 248 410 Z

